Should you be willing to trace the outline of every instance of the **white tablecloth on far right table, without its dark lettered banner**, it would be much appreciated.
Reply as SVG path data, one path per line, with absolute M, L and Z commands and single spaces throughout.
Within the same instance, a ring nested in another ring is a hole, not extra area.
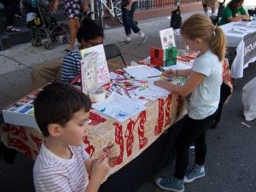
M 256 60 L 256 55 L 245 63 L 245 44 L 244 38 L 253 32 L 256 32 L 256 20 L 230 22 L 226 25 L 220 26 L 226 37 L 227 46 L 236 47 L 236 57 L 231 66 L 232 78 L 238 79 L 243 77 L 243 69 L 248 66 L 248 63 Z M 256 33 L 254 34 L 256 36 Z

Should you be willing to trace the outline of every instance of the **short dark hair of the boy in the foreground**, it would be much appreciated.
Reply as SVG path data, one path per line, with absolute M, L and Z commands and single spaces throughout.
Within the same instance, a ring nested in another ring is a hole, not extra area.
M 48 125 L 65 126 L 73 113 L 84 109 L 89 112 L 89 96 L 68 84 L 53 83 L 38 93 L 34 102 L 35 118 L 44 137 L 49 136 Z

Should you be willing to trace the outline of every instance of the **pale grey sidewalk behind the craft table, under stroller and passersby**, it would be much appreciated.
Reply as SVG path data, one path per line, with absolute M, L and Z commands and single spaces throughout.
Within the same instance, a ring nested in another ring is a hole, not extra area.
M 193 13 L 201 13 L 201 11 Z M 183 20 L 191 14 L 183 14 Z M 170 27 L 170 17 L 169 19 L 165 16 L 149 20 L 139 20 L 139 26 L 143 32 L 159 38 L 159 31 Z M 149 55 L 149 47 L 152 45 L 150 45 L 150 42 L 147 41 L 143 46 L 135 46 L 131 49 L 131 46 L 119 44 L 119 41 L 124 40 L 124 38 L 125 32 L 122 26 L 104 31 L 104 44 L 118 44 L 123 55 L 125 55 L 125 61 L 137 61 Z M 132 38 L 135 41 L 138 40 L 134 33 Z M 136 44 L 136 42 L 134 43 Z M 135 44 L 132 44 L 132 46 Z M 63 58 L 67 54 L 64 51 L 66 46 L 67 44 L 58 42 L 55 44 L 54 49 L 48 50 L 44 49 L 44 46 L 32 47 L 31 43 L 27 43 L 15 45 L 12 49 L 0 52 L 0 63 L 2 64 L 0 68 L 0 108 L 2 109 L 15 102 L 21 96 L 25 96 L 32 87 L 30 79 L 32 68 L 46 61 Z M 134 50 L 136 55 L 132 55 L 131 50 Z

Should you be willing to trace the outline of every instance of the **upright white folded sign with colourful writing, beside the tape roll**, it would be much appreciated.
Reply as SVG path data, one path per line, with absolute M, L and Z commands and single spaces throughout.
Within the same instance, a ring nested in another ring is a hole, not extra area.
M 81 81 L 82 91 L 96 89 L 110 81 L 108 63 L 102 44 L 81 50 Z

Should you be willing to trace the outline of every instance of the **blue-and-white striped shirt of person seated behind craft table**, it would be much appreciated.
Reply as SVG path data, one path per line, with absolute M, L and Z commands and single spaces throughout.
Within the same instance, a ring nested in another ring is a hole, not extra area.
M 75 47 L 65 55 L 61 68 L 61 82 L 69 84 L 80 73 L 80 64 L 82 60 L 79 47 Z

